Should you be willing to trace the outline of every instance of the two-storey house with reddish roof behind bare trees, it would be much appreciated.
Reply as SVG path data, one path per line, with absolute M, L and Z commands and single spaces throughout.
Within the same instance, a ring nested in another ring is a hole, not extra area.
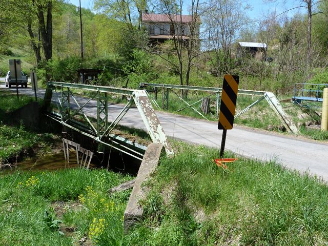
M 192 24 L 191 15 L 169 15 L 169 14 L 142 14 L 141 23 L 148 30 L 148 37 L 151 42 L 162 43 L 165 40 L 179 38 L 190 38 L 190 26 Z M 196 20 L 196 30 L 194 38 L 199 38 L 200 18 Z

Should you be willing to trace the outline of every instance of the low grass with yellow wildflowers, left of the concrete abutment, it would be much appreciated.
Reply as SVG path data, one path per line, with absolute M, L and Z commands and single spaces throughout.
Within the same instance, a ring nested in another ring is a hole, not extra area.
M 0 245 L 73 245 L 84 235 L 94 242 L 121 240 L 129 192 L 108 197 L 108 189 L 129 179 L 106 170 L 85 169 L 2 176 Z M 57 214 L 59 208 L 53 208 L 58 200 L 67 201 L 61 208 L 63 215 Z M 71 209 L 73 201 L 78 209 Z M 66 227 L 75 233 L 67 236 L 64 230 L 59 231 Z

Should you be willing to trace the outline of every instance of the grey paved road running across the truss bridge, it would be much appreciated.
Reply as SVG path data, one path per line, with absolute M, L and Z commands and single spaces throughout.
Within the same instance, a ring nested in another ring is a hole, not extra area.
M 3 85 L 1 87 L 4 88 Z M 19 91 L 34 96 L 30 88 Z M 43 97 L 44 92 L 38 91 L 38 96 Z M 87 101 L 82 97 L 78 97 L 77 100 L 80 105 Z M 96 101 L 91 100 L 85 112 L 87 115 L 95 116 L 95 109 Z M 113 120 L 121 109 L 122 105 L 110 105 L 109 120 Z M 160 111 L 156 113 L 168 136 L 194 144 L 219 147 L 222 131 L 217 130 L 216 122 Z M 130 109 L 120 124 L 146 130 L 136 108 Z M 325 143 L 235 126 L 227 133 L 226 149 L 260 160 L 274 159 L 285 167 L 301 172 L 308 171 L 328 181 L 328 144 Z

